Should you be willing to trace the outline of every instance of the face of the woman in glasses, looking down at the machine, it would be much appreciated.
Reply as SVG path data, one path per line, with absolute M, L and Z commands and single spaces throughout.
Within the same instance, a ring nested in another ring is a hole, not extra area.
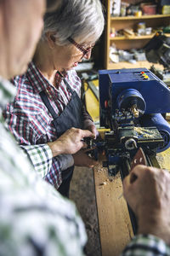
M 85 44 L 81 44 L 84 49 L 89 49 L 94 46 L 93 40 L 89 40 Z M 82 58 L 89 59 L 91 56 L 91 49 L 89 49 L 86 55 L 83 55 L 80 49 L 74 44 L 69 44 L 65 46 L 56 45 L 54 47 L 54 69 L 55 70 L 70 70 L 73 67 L 77 67 L 79 62 L 82 62 Z

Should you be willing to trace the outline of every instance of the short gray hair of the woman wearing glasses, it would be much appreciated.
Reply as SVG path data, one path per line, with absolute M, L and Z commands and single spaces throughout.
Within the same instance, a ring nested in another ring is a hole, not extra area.
M 44 16 L 42 40 L 47 32 L 56 32 L 56 44 L 69 44 L 67 38 L 99 39 L 104 29 L 104 15 L 99 0 L 62 0 L 59 9 Z

